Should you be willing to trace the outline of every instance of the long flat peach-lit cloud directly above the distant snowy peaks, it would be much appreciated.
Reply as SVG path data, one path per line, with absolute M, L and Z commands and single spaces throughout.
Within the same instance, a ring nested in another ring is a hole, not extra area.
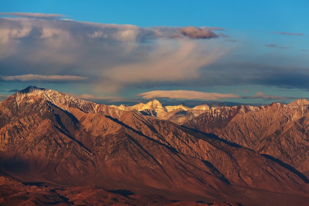
M 168 99 L 198 99 L 198 100 L 219 100 L 227 98 L 240 98 L 236 94 L 208 93 L 190 90 L 154 90 L 137 94 L 144 99 L 168 98 Z

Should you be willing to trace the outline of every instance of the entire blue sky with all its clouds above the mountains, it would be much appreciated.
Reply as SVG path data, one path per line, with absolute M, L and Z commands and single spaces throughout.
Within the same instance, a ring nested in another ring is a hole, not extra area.
M 309 99 L 308 0 L 1 0 L 0 101 Z

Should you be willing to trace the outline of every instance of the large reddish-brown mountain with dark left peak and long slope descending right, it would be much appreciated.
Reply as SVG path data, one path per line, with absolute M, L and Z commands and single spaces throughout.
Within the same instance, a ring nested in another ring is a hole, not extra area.
M 0 103 L 0 172 L 11 181 L 53 188 L 55 201 L 62 196 L 54 188 L 93 186 L 104 190 L 89 191 L 102 196 L 130 191 L 140 205 L 154 196 L 153 205 L 172 200 L 289 205 L 308 198 L 304 179 L 252 150 L 136 110 L 37 87 Z M 16 193 L 27 188 L 16 187 Z M 77 198 L 66 197 L 66 204 Z

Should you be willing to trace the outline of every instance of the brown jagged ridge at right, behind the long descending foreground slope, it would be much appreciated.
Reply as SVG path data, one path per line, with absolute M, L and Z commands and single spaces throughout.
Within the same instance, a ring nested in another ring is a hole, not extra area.
M 209 110 L 185 124 L 263 154 L 309 182 L 309 101 Z

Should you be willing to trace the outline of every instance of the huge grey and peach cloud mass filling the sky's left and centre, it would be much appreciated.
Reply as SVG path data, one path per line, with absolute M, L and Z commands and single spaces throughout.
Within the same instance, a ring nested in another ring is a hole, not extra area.
M 183 37 L 179 27 L 38 18 L 0 18 L 0 24 L 0 68 L 9 68 L 1 71 L 2 81 L 64 82 L 87 77 L 83 82 L 105 95 L 126 85 L 196 78 L 199 68 L 217 61 L 226 51 L 215 42 L 170 38 Z M 216 36 L 197 30 L 200 34 L 186 34 Z

